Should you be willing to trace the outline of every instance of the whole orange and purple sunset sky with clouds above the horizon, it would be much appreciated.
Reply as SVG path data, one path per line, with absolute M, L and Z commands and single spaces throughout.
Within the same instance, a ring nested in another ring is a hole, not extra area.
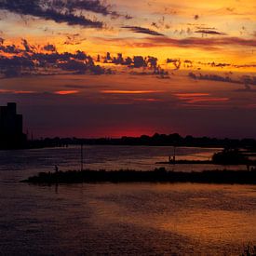
M 255 0 L 0 0 L 0 105 L 38 138 L 256 138 L 255 14 Z

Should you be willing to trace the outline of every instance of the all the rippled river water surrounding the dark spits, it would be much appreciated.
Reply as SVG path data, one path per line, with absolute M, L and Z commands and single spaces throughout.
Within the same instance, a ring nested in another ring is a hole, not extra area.
M 215 151 L 177 154 L 206 159 Z M 153 169 L 171 154 L 168 147 L 85 150 L 88 168 L 107 169 Z M 256 186 L 19 182 L 56 164 L 78 168 L 79 148 L 0 152 L 1 255 L 237 255 L 256 244 Z

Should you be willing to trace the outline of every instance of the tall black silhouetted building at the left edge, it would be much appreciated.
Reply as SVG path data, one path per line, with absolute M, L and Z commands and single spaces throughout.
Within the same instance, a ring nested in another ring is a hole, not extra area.
M 22 148 L 26 143 L 22 115 L 16 111 L 16 103 L 8 102 L 0 107 L 0 148 Z

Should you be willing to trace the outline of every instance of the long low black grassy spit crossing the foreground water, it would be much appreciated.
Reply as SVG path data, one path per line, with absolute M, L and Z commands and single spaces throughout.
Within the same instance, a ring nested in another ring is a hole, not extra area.
M 174 172 L 165 168 L 154 171 L 137 170 L 70 170 L 41 172 L 21 182 L 34 184 L 82 182 L 195 182 L 223 184 L 256 184 L 256 171 L 209 170 L 202 172 Z

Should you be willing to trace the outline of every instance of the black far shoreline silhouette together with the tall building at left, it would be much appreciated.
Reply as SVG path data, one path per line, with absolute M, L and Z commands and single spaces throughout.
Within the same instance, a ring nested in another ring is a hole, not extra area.
M 31 140 L 29 140 L 31 137 Z M 17 104 L 7 102 L 0 106 L 0 149 L 31 149 L 45 147 L 67 147 L 68 145 L 146 145 L 146 146 L 187 146 L 187 147 L 214 147 L 214 148 L 244 148 L 250 154 L 256 153 L 254 139 L 217 139 L 193 136 L 182 137 L 178 133 L 158 134 L 141 137 L 122 137 L 119 139 L 77 139 L 77 138 L 45 138 L 34 140 L 33 134 L 23 132 L 23 116 L 17 113 Z

